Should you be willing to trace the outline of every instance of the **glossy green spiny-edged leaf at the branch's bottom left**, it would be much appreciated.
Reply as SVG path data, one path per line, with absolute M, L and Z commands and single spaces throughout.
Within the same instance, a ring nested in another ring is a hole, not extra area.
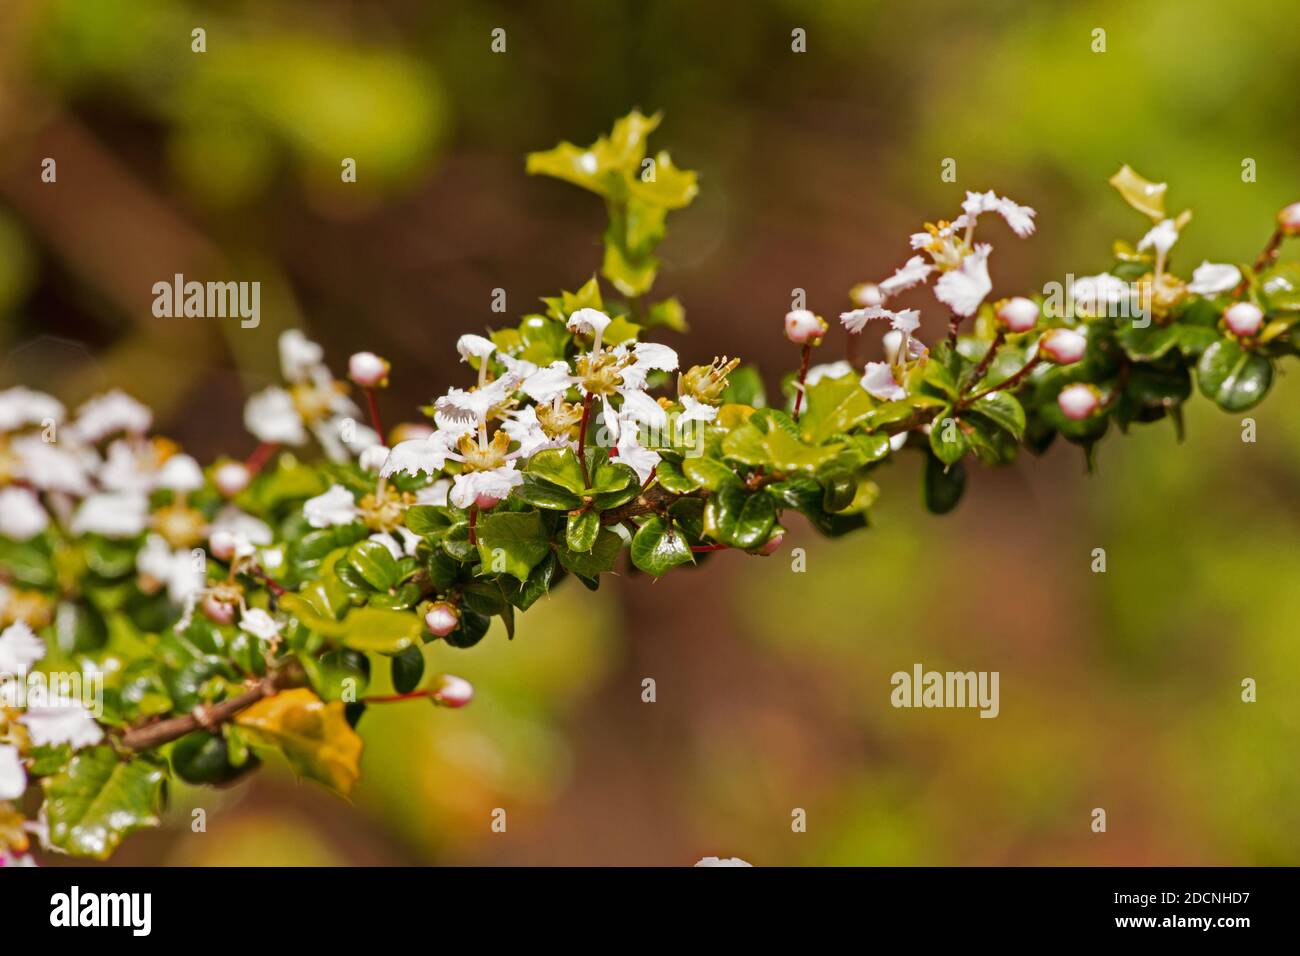
M 146 757 L 120 760 L 110 747 L 82 750 L 64 773 L 42 780 L 51 844 L 107 860 L 126 835 L 159 826 L 165 778 Z

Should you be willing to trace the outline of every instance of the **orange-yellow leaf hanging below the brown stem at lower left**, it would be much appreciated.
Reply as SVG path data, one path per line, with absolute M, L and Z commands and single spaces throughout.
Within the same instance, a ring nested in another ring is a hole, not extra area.
M 326 704 L 298 687 L 257 701 L 235 723 L 254 744 L 278 749 L 296 773 L 342 796 L 361 775 L 361 737 L 348 726 L 341 701 Z

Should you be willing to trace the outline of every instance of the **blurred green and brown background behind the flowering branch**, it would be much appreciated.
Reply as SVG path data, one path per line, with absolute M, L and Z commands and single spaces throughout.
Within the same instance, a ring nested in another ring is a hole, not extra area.
M 1124 161 L 1195 208 L 1183 274 L 1253 259 L 1300 198 L 1297 79 L 1291 0 L 5 0 L 0 385 L 125 385 L 200 458 L 240 453 L 243 397 L 302 326 L 335 365 L 394 359 L 386 406 L 413 412 L 464 380 L 452 341 L 499 319 L 494 289 L 517 316 L 598 267 L 599 202 L 523 156 L 632 107 L 663 109 L 656 146 L 701 174 L 663 248 L 656 293 L 692 325 L 667 341 L 775 382 L 792 289 L 838 312 L 965 189 L 1039 209 L 1031 241 L 991 229 L 998 294 L 1140 235 L 1105 185 Z M 261 281 L 260 328 L 155 319 L 176 272 Z M 1054 447 L 974 475 L 946 518 L 905 459 L 872 531 L 793 528 L 806 574 L 722 554 L 562 588 L 511 644 L 426 649 L 478 696 L 372 708 L 354 804 L 283 767 L 177 790 L 116 862 L 1297 864 L 1297 398 L 1283 376 L 1256 444 L 1193 398 L 1180 446 L 1167 423 L 1112 436 L 1091 477 Z M 914 662 L 1000 671 L 1001 715 L 892 709 Z

